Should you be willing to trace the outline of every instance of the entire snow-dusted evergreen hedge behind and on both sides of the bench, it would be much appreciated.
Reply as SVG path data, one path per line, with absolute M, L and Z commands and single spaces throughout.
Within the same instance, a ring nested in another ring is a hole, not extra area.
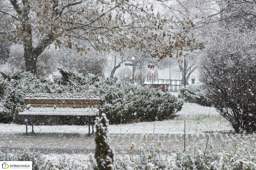
M 73 70 L 59 70 L 62 76 L 55 77 L 53 82 L 37 79 L 28 72 L 0 71 L 0 122 L 19 122 L 18 108 L 24 104 L 24 93 L 100 93 L 100 112 L 116 123 L 120 123 L 121 118 L 122 122 L 155 120 L 156 117 L 167 119 L 183 105 L 183 101 L 161 90 L 116 83 L 115 79 L 102 80 L 95 75 L 84 77 Z M 84 123 L 81 118 L 62 119 L 55 121 Z M 44 123 L 52 122 L 48 119 Z

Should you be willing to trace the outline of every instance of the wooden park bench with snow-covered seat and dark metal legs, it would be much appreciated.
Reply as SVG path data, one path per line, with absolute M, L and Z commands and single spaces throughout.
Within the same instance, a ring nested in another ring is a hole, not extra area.
M 28 134 L 28 119 L 30 119 L 33 128 L 33 117 L 61 117 L 77 116 L 88 117 L 89 134 L 90 123 L 93 118 L 99 115 L 100 94 L 26 94 L 24 107 L 19 115 L 25 117 L 26 135 Z

